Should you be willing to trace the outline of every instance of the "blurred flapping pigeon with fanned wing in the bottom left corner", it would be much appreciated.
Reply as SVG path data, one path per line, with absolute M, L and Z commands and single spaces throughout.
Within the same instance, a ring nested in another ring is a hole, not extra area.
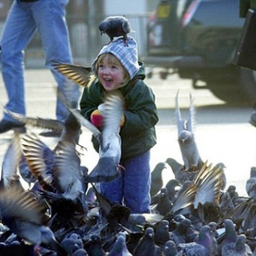
M 47 227 L 46 208 L 32 194 L 7 188 L 0 194 L 0 218 L 17 236 L 40 248 L 50 245 L 59 255 L 68 255 Z

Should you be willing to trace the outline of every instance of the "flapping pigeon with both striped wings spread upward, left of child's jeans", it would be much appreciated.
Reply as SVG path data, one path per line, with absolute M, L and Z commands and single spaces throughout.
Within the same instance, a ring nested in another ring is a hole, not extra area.
M 63 142 L 57 154 L 35 134 L 25 134 L 22 140 L 26 161 L 41 185 L 41 195 L 50 203 L 52 214 L 64 218 L 63 225 L 69 224 L 71 219 L 74 225 L 75 219 L 80 221 L 81 216 L 88 212 L 85 201 L 87 184 L 76 143 Z

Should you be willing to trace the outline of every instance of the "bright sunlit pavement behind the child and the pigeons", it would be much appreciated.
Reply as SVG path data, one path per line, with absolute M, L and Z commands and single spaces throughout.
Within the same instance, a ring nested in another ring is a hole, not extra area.
M 190 80 L 180 80 L 175 75 L 167 80 L 159 80 L 158 76 L 147 79 L 155 92 L 156 103 L 159 109 L 160 121 L 157 125 L 158 144 L 152 149 L 152 167 L 167 157 L 181 160 L 178 143 L 176 141 L 176 125 L 174 119 L 174 104 L 177 89 L 180 93 L 180 106 L 184 117 L 189 104 L 188 93 L 194 95 L 194 104 L 197 107 L 196 139 L 203 160 L 213 164 L 220 161 L 227 166 L 227 182 L 235 184 L 240 194 L 245 194 L 245 180 L 249 170 L 256 165 L 256 144 L 254 128 L 248 124 L 251 114 L 249 107 L 227 107 L 223 101 L 215 98 L 206 89 L 194 91 Z M 56 83 L 48 70 L 26 71 L 26 107 L 27 116 L 55 118 Z M 7 95 L 2 80 L 0 80 L 0 104 L 4 105 Z M 0 118 L 2 118 L 0 111 Z M 35 131 L 39 132 L 39 131 Z M 12 131 L 0 134 L 0 164 L 5 155 Z M 91 134 L 83 130 L 80 143 L 86 146 L 82 161 L 89 167 L 95 166 L 98 154 L 92 149 Z M 56 139 L 41 137 L 49 146 L 54 146 Z M 173 177 L 171 170 L 164 171 L 164 180 L 167 182 Z

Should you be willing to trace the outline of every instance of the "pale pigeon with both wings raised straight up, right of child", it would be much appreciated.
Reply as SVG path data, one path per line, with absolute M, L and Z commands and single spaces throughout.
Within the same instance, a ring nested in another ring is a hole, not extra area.
M 192 101 L 192 96 L 190 94 L 190 107 L 188 119 L 184 120 L 181 117 L 179 110 L 179 91 L 176 94 L 176 122 L 178 127 L 178 142 L 180 152 L 182 154 L 182 159 L 184 161 L 185 170 L 197 170 L 203 164 L 200 158 L 197 144 L 194 138 L 194 106 Z

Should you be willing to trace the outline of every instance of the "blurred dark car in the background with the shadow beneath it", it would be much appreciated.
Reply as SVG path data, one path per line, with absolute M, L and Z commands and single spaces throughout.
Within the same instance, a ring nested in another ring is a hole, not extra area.
M 161 0 L 149 19 L 148 53 L 141 59 L 163 68 L 162 79 L 177 73 L 227 103 L 249 103 L 256 99 L 256 71 L 233 64 L 244 23 L 239 0 Z

